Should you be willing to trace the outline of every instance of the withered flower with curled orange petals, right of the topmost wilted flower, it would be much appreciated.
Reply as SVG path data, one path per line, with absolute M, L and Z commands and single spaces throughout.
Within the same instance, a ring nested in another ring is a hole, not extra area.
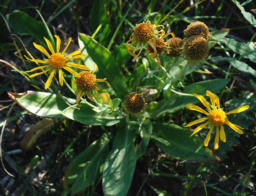
M 149 55 L 152 57 L 152 59 L 156 59 L 158 61 L 158 65 L 161 65 L 160 59 L 159 59 L 159 54 L 162 53 L 162 51 L 166 50 L 167 47 L 170 46 L 170 44 L 168 42 L 164 41 L 164 38 L 166 38 L 169 34 L 172 35 L 172 38 L 170 39 L 174 39 L 175 38 L 175 34 L 174 33 L 167 33 L 165 34 L 165 32 L 163 30 L 161 30 L 161 34 L 158 37 L 158 39 L 152 39 L 151 41 L 153 42 L 153 46 L 152 44 L 147 44 L 147 49 L 146 52 L 149 53 Z

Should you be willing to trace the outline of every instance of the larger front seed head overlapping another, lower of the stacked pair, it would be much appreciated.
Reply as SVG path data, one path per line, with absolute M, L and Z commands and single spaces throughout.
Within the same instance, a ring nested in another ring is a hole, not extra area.
M 191 65 L 198 65 L 208 56 L 208 41 L 200 35 L 185 39 L 181 56 Z

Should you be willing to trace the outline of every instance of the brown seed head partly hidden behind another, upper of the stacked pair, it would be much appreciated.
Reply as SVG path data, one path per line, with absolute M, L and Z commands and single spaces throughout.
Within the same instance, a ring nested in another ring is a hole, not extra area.
M 200 35 L 208 41 L 211 37 L 208 26 L 199 21 L 189 24 L 187 29 L 183 32 L 185 38 L 190 38 L 193 35 Z

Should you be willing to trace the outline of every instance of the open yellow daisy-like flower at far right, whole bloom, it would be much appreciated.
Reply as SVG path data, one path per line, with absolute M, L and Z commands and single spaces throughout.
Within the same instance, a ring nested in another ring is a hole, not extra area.
M 203 105 L 208 109 L 208 112 L 205 111 L 204 109 L 200 108 L 199 106 L 192 105 L 192 104 L 187 105 L 186 108 L 206 114 L 208 117 L 195 120 L 195 121 L 187 124 L 185 127 L 190 127 L 194 124 L 201 123 L 203 121 L 208 120 L 206 123 L 195 128 L 195 130 L 191 136 L 193 136 L 195 133 L 199 132 L 201 129 L 203 129 L 208 124 L 212 124 L 210 131 L 208 132 L 208 134 L 205 138 L 205 141 L 203 142 L 203 145 L 208 146 L 213 127 L 216 126 L 217 131 L 216 131 L 215 144 L 214 144 L 214 149 L 216 150 L 219 147 L 219 137 L 220 137 L 220 140 L 222 140 L 222 142 L 226 142 L 226 135 L 224 132 L 223 124 L 227 124 L 234 131 L 238 132 L 239 134 L 243 134 L 243 131 L 241 130 L 241 129 L 243 129 L 243 127 L 240 127 L 236 124 L 231 123 L 228 120 L 228 118 L 226 117 L 226 115 L 243 112 L 246 109 L 248 109 L 249 106 L 241 106 L 237 109 L 234 109 L 230 112 L 225 113 L 223 110 L 220 109 L 220 100 L 217 95 L 215 95 L 214 93 L 211 93 L 208 90 L 206 91 L 205 94 L 210 97 L 210 100 L 211 100 L 211 103 L 212 103 L 212 106 L 214 109 L 210 108 L 207 100 L 202 95 L 197 95 L 194 93 L 195 97 L 198 98 L 203 103 Z M 217 108 L 215 108 L 216 105 L 217 105 Z M 219 127 L 220 127 L 220 131 L 219 131 Z

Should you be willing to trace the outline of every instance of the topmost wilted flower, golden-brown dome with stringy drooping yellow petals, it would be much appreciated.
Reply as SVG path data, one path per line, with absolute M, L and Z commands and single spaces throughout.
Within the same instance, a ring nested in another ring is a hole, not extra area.
M 164 26 L 162 25 L 151 24 L 150 21 L 146 21 L 145 23 L 143 21 L 143 23 L 137 24 L 135 28 L 131 30 L 130 39 L 126 42 L 126 49 L 134 57 L 132 61 L 135 61 L 136 59 L 138 59 L 139 55 L 143 50 L 143 45 L 145 43 L 150 44 L 151 47 L 153 47 L 154 51 L 156 51 L 156 43 L 153 42 L 153 40 L 158 39 L 157 35 L 158 33 L 161 33 L 161 31 L 156 30 L 156 28 L 160 26 L 162 27 L 161 30 L 163 30 Z M 129 42 L 131 42 L 130 45 L 128 45 Z M 133 46 L 135 44 L 136 44 L 135 48 L 132 49 L 130 46 Z M 141 49 L 139 50 L 138 54 L 135 54 L 139 46 L 141 47 Z

